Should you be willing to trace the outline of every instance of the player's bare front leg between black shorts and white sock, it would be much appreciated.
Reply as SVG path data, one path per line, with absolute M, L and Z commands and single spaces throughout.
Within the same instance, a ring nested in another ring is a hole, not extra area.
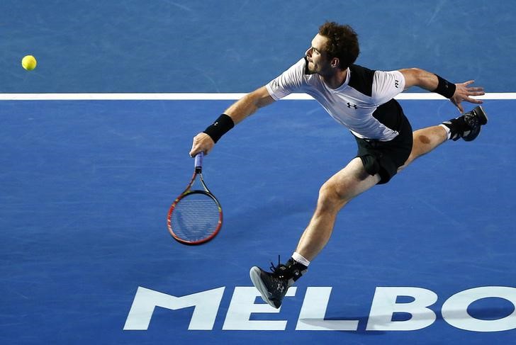
M 320 188 L 317 208 L 299 240 L 296 252 L 308 261 L 314 259 L 330 239 L 340 209 L 378 181 L 380 176 L 369 175 L 359 158 L 353 159 L 326 181 Z

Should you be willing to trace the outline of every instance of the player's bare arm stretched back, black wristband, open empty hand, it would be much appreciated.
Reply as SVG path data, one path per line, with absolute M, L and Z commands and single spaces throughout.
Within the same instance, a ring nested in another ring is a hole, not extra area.
M 419 86 L 422 89 L 436 92 L 446 98 L 449 98 L 451 103 L 464 113 L 461 103 L 463 101 L 481 104 L 482 101 L 471 98 L 472 96 L 482 96 L 484 93 L 483 87 L 469 86 L 473 84 L 473 80 L 465 81 L 464 83 L 452 84 L 446 79 L 443 79 L 436 74 L 425 71 L 419 68 L 400 69 L 405 77 L 405 89 L 411 86 Z

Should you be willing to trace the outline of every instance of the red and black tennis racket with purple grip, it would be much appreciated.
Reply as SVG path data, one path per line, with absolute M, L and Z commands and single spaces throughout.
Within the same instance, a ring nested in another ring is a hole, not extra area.
M 202 189 L 192 189 L 197 177 Z M 170 206 L 167 226 L 172 237 L 182 244 L 208 242 L 222 227 L 222 207 L 203 180 L 203 152 L 195 157 L 190 183 Z

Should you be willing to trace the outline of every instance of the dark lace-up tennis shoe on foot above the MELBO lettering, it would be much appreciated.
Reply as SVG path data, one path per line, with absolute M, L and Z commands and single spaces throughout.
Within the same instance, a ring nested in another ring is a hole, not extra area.
M 288 266 L 278 263 L 278 266 L 271 264 L 271 273 L 254 266 L 249 271 L 249 276 L 254 287 L 262 295 L 262 299 L 272 307 L 279 309 L 288 288 L 293 285 L 294 281 L 301 278 L 305 271 L 301 271 L 293 263 Z

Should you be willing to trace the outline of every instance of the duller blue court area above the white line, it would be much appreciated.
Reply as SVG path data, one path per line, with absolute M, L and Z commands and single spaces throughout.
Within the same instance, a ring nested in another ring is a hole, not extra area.
M 0 93 L 252 91 L 325 20 L 357 30 L 359 64 L 514 91 L 512 1 L 3 0 Z

